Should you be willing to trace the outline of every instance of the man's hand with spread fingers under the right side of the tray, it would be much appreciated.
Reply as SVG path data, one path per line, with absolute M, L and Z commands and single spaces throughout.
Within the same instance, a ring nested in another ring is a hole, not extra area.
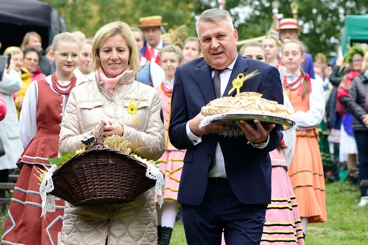
M 252 127 L 249 123 L 243 120 L 237 121 L 237 124 L 243 130 L 245 137 L 250 142 L 259 144 L 267 141 L 269 132 L 271 132 L 272 128 L 276 126 L 275 123 L 262 125 L 257 119 L 255 119 L 253 122 L 256 124 L 255 127 Z

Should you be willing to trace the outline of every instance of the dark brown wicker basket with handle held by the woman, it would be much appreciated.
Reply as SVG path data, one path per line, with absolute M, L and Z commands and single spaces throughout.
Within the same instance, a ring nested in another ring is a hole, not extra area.
M 74 206 L 124 203 L 155 186 L 156 181 L 146 177 L 145 164 L 122 151 L 103 148 L 101 125 L 98 146 L 74 155 L 53 173 L 51 195 Z

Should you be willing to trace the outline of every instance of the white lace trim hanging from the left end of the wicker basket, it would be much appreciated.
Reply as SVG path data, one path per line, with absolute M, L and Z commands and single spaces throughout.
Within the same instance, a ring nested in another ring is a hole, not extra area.
M 47 212 L 55 212 L 56 210 L 55 201 L 60 200 L 59 197 L 49 195 L 49 193 L 51 193 L 54 189 L 53 172 L 55 172 L 56 169 L 57 169 L 56 164 L 51 166 L 51 168 L 49 169 L 49 172 L 45 174 L 45 177 L 43 178 L 41 182 L 41 186 L 40 186 L 40 194 L 41 194 L 41 199 L 42 199 L 41 217 L 43 216 L 45 219 L 46 219 Z

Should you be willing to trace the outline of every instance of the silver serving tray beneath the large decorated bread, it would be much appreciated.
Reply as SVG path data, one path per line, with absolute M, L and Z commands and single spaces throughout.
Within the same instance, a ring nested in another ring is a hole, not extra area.
M 261 123 L 277 123 L 284 126 L 284 129 L 292 128 L 295 125 L 295 122 L 282 117 L 276 117 L 271 115 L 264 115 L 264 114 L 226 114 L 222 115 L 216 119 L 213 119 L 212 122 L 217 121 L 230 121 L 230 120 L 244 120 L 250 121 L 250 124 L 254 124 L 253 120 L 257 119 Z

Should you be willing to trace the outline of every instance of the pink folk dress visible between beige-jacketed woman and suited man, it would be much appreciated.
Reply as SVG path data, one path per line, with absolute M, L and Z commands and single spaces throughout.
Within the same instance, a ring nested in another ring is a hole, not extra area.
M 183 159 L 185 155 L 184 150 L 178 150 L 171 145 L 169 140 L 169 122 L 171 112 L 171 94 L 172 89 L 168 89 L 162 82 L 157 87 L 158 94 L 162 102 L 164 129 L 165 129 L 165 146 L 166 150 L 160 161 L 159 169 L 165 174 L 165 187 L 163 188 L 163 200 L 164 201 L 176 201 L 178 199 L 178 190 L 180 177 L 183 169 Z

